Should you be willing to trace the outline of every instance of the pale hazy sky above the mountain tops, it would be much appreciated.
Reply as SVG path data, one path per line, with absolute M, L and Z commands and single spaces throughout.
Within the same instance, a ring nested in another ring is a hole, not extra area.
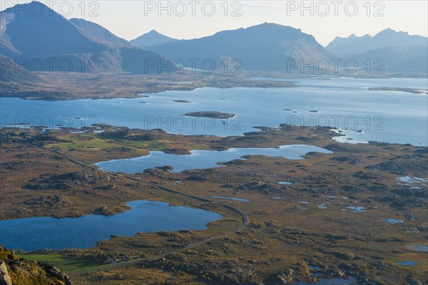
M 1 10 L 26 1 L 1 0 Z M 156 29 L 173 38 L 272 22 L 310 33 L 322 45 L 335 36 L 374 35 L 384 28 L 427 36 L 428 1 L 42 1 L 66 18 L 83 18 L 131 40 Z M 169 15 L 168 15 L 169 14 Z

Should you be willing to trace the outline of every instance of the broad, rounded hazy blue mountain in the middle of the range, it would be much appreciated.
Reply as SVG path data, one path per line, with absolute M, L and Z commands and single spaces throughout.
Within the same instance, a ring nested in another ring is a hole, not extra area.
M 210 59 L 215 61 L 217 69 L 223 68 L 225 58 L 238 59 L 240 69 L 260 71 L 287 71 L 290 59 L 309 63 L 311 58 L 315 61 L 331 58 L 313 36 L 290 26 L 267 23 L 220 31 L 205 38 L 149 46 L 147 49 L 174 61 L 178 58 L 198 58 L 200 62 Z

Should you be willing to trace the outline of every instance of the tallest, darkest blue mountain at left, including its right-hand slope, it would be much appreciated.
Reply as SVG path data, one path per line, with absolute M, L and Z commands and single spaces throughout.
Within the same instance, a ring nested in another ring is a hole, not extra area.
M 1 54 L 30 71 L 158 73 L 146 62 L 168 62 L 97 24 L 68 21 L 36 1 L 0 12 L 0 38 Z

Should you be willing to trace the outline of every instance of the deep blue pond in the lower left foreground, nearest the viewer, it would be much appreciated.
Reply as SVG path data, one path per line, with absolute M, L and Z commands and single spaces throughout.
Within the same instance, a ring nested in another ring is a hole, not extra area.
M 9 249 L 86 249 L 111 235 L 131 237 L 137 233 L 207 229 L 208 222 L 221 219 L 215 212 L 168 202 L 128 202 L 126 212 L 78 218 L 30 217 L 0 221 L 0 243 Z

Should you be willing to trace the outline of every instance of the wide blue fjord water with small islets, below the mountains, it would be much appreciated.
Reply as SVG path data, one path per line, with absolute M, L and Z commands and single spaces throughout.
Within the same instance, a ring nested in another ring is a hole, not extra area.
M 1 98 L 1 126 L 10 123 L 161 128 L 185 135 L 242 135 L 255 126 L 328 125 L 344 130 L 343 142 L 428 145 L 428 96 L 371 87 L 427 89 L 426 78 L 299 78 L 297 88 L 200 88 L 145 94 L 148 98 L 23 100 Z M 187 100 L 191 103 L 179 103 Z M 229 119 L 190 118 L 198 111 L 233 113 Z M 312 112 L 310 112 L 312 111 Z M 315 112 L 317 111 L 317 112 Z M 352 138 L 352 140 L 347 140 Z

